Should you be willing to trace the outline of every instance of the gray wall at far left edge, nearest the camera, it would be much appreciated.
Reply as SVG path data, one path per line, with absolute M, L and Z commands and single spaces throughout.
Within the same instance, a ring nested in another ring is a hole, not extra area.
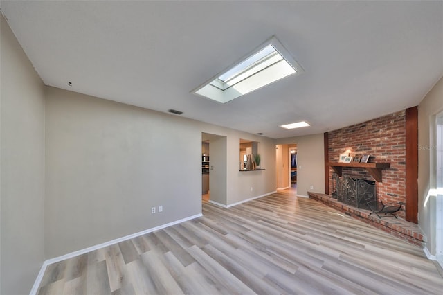
M 44 84 L 0 18 L 0 294 L 27 294 L 44 261 Z

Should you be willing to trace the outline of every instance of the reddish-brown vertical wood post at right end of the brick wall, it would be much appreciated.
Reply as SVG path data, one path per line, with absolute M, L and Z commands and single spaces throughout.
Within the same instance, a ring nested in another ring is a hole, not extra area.
M 406 221 L 418 223 L 418 108 L 406 109 Z

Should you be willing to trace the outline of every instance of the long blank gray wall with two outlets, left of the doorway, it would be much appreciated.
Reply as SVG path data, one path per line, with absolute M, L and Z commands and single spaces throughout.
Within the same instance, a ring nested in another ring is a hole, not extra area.
M 201 213 L 195 123 L 52 87 L 47 93 L 46 257 Z M 160 205 L 162 213 L 150 213 Z

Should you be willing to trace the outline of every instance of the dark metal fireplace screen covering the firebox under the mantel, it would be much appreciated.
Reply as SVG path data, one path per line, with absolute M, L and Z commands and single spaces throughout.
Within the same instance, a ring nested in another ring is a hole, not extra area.
M 337 200 L 361 209 L 370 209 L 368 202 L 375 201 L 375 181 L 352 177 L 336 177 Z

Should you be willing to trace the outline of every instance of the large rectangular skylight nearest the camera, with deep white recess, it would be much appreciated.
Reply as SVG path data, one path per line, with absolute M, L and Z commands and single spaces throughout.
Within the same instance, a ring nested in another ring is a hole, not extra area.
M 302 73 L 282 44 L 271 37 L 240 62 L 197 87 L 193 93 L 226 103 L 294 73 Z

